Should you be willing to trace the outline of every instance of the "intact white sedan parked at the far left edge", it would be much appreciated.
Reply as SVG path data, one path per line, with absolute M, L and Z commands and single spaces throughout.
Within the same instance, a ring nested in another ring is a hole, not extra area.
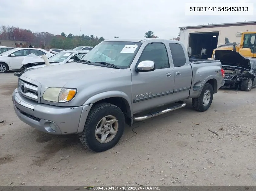
M 14 48 L 0 54 L 0 74 L 6 73 L 8 70 L 19 70 L 22 67 L 22 61 L 29 54 L 42 56 L 43 54 L 49 58 L 54 54 L 40 48 Z

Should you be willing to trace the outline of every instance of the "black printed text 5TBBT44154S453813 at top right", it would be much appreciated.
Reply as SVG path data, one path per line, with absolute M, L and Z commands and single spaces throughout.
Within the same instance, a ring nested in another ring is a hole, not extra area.
M 248 7 L 190 7 L 189 11 L 248 11 Z

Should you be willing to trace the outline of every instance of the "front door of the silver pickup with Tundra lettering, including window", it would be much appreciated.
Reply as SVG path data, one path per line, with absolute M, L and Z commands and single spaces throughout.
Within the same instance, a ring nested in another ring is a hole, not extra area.
M 138 62 L 151 60 L 155 70 L 132 72 L 133 112 L 139 113 L 171 103 L 174 88 L 174 70 L 164 43 L 149 43 L 145 46 Z

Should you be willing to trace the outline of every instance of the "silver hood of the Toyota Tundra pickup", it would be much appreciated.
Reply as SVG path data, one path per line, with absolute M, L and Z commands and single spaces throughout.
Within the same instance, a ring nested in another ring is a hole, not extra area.
M 29 78 L 42 84 L 42 90 L 48 87 L 62 88 L 65 84 L 75 84 L 77 80 L 87 83 L 95 81 L 95 78 L 104 80 L 111 72 L 118 72 L 121 69 L 102 66 L 88 65 L 78 62 L 51 65 L 30 70 L 22 74 L 22 77 Z

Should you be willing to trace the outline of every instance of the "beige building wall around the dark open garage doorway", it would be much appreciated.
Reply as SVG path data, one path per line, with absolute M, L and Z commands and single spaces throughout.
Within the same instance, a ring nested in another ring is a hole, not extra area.
M 237 37 L 237 32 L 256 31 L 256 24 L 244 26 L 228 26 L 228 27 L 212 27 L 212 28 L 198 28 L 198 29 L 184 29 L 180 31 L 180 41 L 188 49 L 189 33 L 203 33 L 203 32 L 219 32 L 218 45 L 225 44 L 225 37 L 228 37 L 230 43 L 240 43 L 241 37 Z M 216 47 L 217 48 L 217 47 Z

